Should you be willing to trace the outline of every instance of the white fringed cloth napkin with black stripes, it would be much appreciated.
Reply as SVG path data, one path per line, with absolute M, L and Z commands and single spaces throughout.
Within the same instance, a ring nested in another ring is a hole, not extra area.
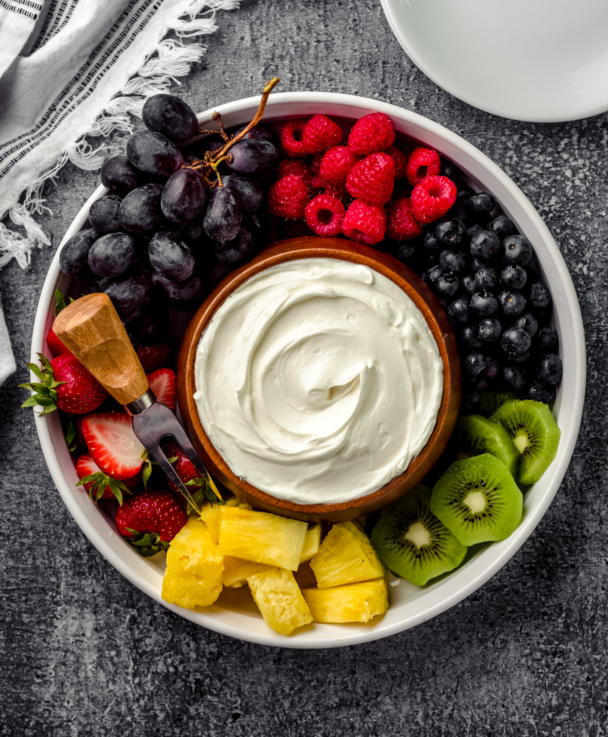
M 44 181 L 67 161 L 88 170 L 103 163 L 84 136 L 130 130 L 128 113 L 141 114 L 147 97 L 204 54 L 192 38 L 214 32 L 216 11 L 238 4 L 0 0 L 0 220 L 8 214 L 25 229 L 0 222 L 0 267 L 15 258 L 26 268 L 32 247 L 49 245 L 34 218 Z M 163 41 L 170 30 L 177 38 Z M 14 370 L 0 308 L 0 384 Z

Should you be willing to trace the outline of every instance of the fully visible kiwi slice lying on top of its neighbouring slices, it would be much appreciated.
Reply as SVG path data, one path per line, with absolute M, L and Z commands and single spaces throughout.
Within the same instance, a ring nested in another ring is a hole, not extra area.
M 484 453 L 455 461 L 436 483 L 430 511 L 463 545 L 509 537 L 522 518 L 522 492 L 509 469 Z

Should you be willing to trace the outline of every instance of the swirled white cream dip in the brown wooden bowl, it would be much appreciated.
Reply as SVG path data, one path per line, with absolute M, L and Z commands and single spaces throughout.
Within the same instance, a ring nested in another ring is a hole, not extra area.
M 433 432 L 443 362 L 413 301 L 366 266 L 300 259 L 238 287 L 203 332 L 195 402 L 238 477 L 337 503 L 403 472 Z

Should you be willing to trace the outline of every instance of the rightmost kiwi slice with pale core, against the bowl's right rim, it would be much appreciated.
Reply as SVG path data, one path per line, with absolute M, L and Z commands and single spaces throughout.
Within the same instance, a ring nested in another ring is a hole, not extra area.
M 536 483 L 557 453 L 562 431 L 544 402 L 505 402 L 490 417 L 509 433 L 521 455 L 518 481 Z

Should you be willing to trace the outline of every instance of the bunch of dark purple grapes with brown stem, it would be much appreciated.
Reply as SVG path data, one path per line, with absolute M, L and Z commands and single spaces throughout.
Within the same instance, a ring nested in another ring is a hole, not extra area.
M 127 156 L 103 164 L 108 195 L 91 205 L 91 227 L 66 243 L 60 266 L 90 279 L 90 290 L 108 294 L 125 324 L 156 339 L 169 307 L 198 307 L 226 268 L 262 245 L 256 180 L 276 167 L 279 153 L 270 131 L 254 126 L 229 136 L 220 116 L 219 132 L 183 147 L 209 131 L 170 94 L 150 97 L 142 118 L 146 130 L 130 137 Z

